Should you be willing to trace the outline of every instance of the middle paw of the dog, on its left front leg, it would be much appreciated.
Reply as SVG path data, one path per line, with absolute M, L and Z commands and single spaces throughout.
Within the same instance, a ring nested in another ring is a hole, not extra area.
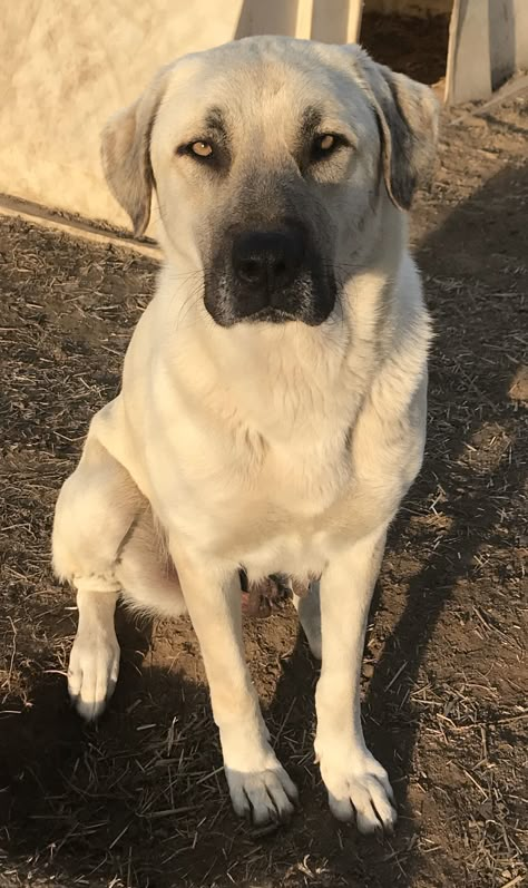
M 295 784 L 278 762 L 264 771 L 243 773 L 225 769 L 233 808 L 255 826 L 285 823 L 297 801 Z

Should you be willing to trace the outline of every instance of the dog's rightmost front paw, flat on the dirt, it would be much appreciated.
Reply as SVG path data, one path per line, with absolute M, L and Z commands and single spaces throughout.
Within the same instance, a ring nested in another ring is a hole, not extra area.
M 370 754 L 320 757 L 330 810 L 338 820 L 353 820 L 360 832 L 391 833 L 397 821 L 394 794 L 385 769 Z

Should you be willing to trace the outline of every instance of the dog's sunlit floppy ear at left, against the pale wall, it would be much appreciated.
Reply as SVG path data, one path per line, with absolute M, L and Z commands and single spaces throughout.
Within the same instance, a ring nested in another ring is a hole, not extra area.
M 136 237 L 145 233 L 150 218 L 155 184 L 150 134 L 169 70 L 169 67 L 162 69 L 134 105 L 110 117 L 101 135 L 106 180 L 114 197 L 130 216 Z

